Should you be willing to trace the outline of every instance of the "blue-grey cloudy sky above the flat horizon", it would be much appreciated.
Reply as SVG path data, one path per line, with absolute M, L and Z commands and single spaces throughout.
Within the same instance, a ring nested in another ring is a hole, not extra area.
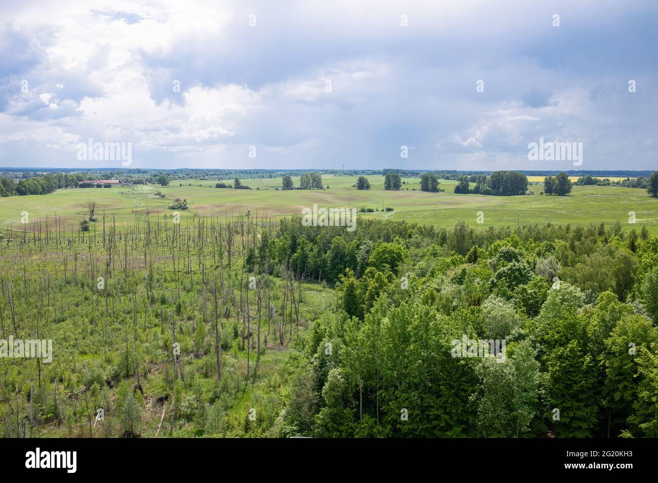
M 528 160 L 544 138 L 655 169 L 657 22 L 655 0 L 3 1 L 0 166 L 120 167 L 78 160 L 93 139 L 134 168 L 574 169 Z

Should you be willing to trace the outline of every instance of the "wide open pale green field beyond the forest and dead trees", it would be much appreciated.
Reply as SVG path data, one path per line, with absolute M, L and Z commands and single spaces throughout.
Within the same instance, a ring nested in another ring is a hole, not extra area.
M 355 176 L 324 176 L 324 191 L 277 191 L 281 179 L 243 179 L 251 190 L 216 189 L 215 180 L 173 180 L 171 185 L 135 185 L 97 189 L 60 189 L 50 195 L 11 196 L 0 198 L 0 227 L 20 225 L 21 212 L 28 212 L 30 222 L 45 217 L 49 221 L 55 214 L 58 219 L 77 224 L 86 213 L 86 202 L 97 202 L 97 214 L 105 214 L 106 221 L 114 218 L 117 224 L 134 220 L 135 216 L 149 213 L 151 219 L 170 214 L 168 205 L 174 198 L 185 198 L 190 206 L 182 216 L 224 214 L 252 214 L 276 218 L 300 214 L 305 207 L 318 204 L 322 207 L 376 208 L 371 214 L 359 217 L 405 219 L 416 223 L 431 223 L 438 227 L 452 227 L 458 219 L 465 219 L 474 227 L 489 225 L 523 225 L 528 223 L 571 223 L 586 225 L 615 223 L 619 220 L 624 229 L 630 228 L 628 212 L 636 213 L 636 223 L 646 225 L 652 234 L 658 233 L 658 200 L 642 189 L 624 187 L 574 186 L 567 196 L 540 195 L 542 185 L 530 185 L 534 195 L 481 196 L 455 195 L 455 181 L 440 180 L 444 193 L 420 191 L 418 178 L 404 178 L 401 191 L 384 191 L 384 178 L 368 176 L 371 189 L 359 191 L 352 185 Z M 293 177 L 295 186 L 299 178 Z M 180 183 L 184 183 L 180 186 Z M 189 185 L 191 183 L 191 185 Z M 230 183 L 230 181 L 228 181 Z M 256 189 L 259 188 L 259 189 Z M 414 191 L 416 189 L 416 191 Z M 154 193 L 160 190 L 166 197 Z M 393 212 L 382 212 L 382 208 Z M 477 212 L 484 213 L 484 224 L 476 225 Z M 101 220 L 102 218 L 99 218 Z M 19 228 L 20 229 L 20 228 Z M 68 226 L 67 226 L 68 229 Z

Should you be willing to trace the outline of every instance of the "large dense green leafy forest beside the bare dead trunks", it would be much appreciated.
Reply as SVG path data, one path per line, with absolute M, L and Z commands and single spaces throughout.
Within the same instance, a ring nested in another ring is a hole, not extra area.
M 658 237 L 619 223 L 446 232 L 368 222 L 330 243 L 306 231 L 300 244 L 294 223 L 282 227 L 305 253 L 328 244 L 339 293 L 338 317 L 316 321 L 296 361 L 289 430 L 658 435 Z M 305 258 L 298 250 L 292 258 Z M 506 347 L 455 357 L 463 338 Z

